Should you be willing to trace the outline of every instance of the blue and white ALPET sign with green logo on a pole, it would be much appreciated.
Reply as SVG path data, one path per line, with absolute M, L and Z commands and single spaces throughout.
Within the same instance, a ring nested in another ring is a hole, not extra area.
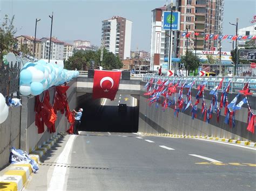
M 180 12 L 172 12 L 172 21 L 171 21 L 171 11 L 164 12 L 164 22 L 163 30 L 179 31 L 180 27 Z

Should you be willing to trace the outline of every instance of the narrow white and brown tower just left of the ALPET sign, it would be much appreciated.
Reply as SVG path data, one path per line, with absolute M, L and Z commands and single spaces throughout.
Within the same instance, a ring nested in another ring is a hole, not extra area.
M 155 70 L 164 62 L 165 30 L 162 27 L 164 11 L 166 11 L 165 6 L 152 10 L 150 70 Z

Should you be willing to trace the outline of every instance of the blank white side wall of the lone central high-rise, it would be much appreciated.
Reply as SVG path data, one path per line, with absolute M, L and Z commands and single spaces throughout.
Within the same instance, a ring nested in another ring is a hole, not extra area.
M 126 19 L 125 22 L 125 41 L 124 41 L 124 58 L 131 56 L 131 38 L 132 38 L 132 22 Z

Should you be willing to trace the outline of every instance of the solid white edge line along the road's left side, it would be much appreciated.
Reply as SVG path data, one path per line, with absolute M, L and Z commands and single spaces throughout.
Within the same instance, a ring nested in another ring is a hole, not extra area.
M 77 136 L 76 135 L 71 135 L 69 137 L 68 142 L 66 142 L 66 145 L 60 153 L 59 157 L 56 159 L 57 164 L 68 164 L 68 160 L 70 155 L 70 151 L 72 150 L 74 140 Z M 66 169 L 67 167 L 58 167 L 55 166 L 53 168 L 53 173 L 50 178 L 50 183 L 47 188 L 47 190 L 65 190 L 66 189 L 66 182 L 65 178 L 68 178 L 66 176 Z M 64 187 L 65 186 L 65 187 Z

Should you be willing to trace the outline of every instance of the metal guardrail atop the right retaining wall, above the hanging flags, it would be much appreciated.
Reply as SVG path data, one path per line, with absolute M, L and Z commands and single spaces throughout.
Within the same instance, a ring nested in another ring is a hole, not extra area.
M 215 86 L 219 84 L 219 82 L 223 79 L 221 76 L 209 76 L 209 77 L 199 77 L 199 76 L 183 76 L 183 77 L 167 77 L 167 76 L 158 76 L 158 75 L 150 75 L 145 74 L 143 76 L 143 81 L 148 82 L 151 77 L 154 77 L 154 79 L 161 79 L 161 80 L 174 80 L 174 83 L 177 83 L 179 80 L 181 83 L 194 83 L 194 88 L 197 88 L 198 85 L 202 84 L 203 82 L 207 81 L 206 89 L 212 90 Z M 224 77 L 223 86 L 221 87 L 221 90 L 223 90 L 228 83 L 228 81 L 232 80 L 231 86 L 230 86 L 230 93 L 238 93 L 239 90 L 241 90 L 245 84 L 250 80 L 250 90 L 253 94 L 256 94 L 256 77 Z

